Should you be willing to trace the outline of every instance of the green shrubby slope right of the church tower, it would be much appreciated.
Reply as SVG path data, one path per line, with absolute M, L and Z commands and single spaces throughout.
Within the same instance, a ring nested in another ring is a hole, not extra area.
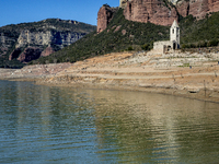
M 219 44 L 219 12 L 195 20 L 192 15 L 180 22 L 182 48 L 210 47 Z

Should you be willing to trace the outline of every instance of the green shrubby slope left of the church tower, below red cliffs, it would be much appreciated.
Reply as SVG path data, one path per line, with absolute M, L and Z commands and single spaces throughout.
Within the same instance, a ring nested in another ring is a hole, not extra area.
M 102 33 L 90 33 L 77 43 L 32 63 L 74 62 L 107 52 L 142 48 L 147 50 L 152 48 L 153 42 L 165 39 L 169 39 L 169 27 L 127 21 L 119 9 Z

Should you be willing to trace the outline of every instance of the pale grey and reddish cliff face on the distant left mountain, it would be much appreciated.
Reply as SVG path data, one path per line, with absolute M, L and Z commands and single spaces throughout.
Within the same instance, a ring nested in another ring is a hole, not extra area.
M 61 49 L 70 44 L 82 38 L 85 33 L 76 32 L 59 32 L 59 31 L 46 31 L 46 32 L 30 32 L 27 30 L 22 31 L 15 49 L 10 54 L 9 60 L 18 58 L 21 62 L 28 62 L 38 59 L 42 56 L 49 56 L 58 49 Z M 22 48 L 27 47 L 22 52 Z M 44 49 L 44 47 L 47 47 Z M 20 54 L 19 54 L 20 52 Z

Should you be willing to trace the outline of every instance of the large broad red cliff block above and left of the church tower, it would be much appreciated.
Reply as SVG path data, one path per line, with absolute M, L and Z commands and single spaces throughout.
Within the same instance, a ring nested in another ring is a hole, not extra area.
M 173 21 L 177 20 L 175 8 L 160 0 L 128 1 L 124 15 L 130 21 L 158 25 L 172 25 Z

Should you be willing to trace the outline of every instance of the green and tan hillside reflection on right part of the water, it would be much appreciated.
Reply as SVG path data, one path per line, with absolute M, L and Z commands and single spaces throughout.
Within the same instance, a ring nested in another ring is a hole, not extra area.
M 195 157 L 218 144 L 217 104 L 141 92 L 89 91 L 95 102 L 100 152 L 112 147 L 120 160 L 154 162 Z M 114 143 L 110 143 L 114 142 Z M 210 145 L 210 147 L 209 147 Z M 107 152 L 112 154 L 112 150 Z M 206 154 L 206 162 L 210 156 Z

